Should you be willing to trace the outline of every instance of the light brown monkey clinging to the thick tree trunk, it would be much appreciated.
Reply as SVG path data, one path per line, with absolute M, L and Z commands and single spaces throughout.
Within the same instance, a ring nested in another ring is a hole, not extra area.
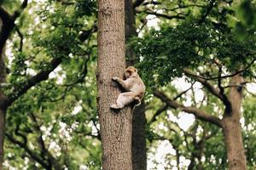
M 125 93 L 119 94 L 116 104 L 110 105 L 112 109 L 122 109 L 125 105 L 135 103 L 135 106 L 141 105 L 145 93 L 145 85 L 141 77 L 137 74 L 137 68 L 129 66 L 125 70 L 125 80 L 119 77 L 113 77 L 113 82 L 118 82 L 125 89 Z

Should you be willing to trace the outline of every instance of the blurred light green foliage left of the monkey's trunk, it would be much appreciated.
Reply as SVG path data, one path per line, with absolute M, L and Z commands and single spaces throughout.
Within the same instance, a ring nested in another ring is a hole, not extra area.
M 90 12 L 82 14 L 87 3 Z M 17 21 L 20 32 L 24 32 L 23 42 L 14 32 L 9 43 L 11 72 L 6 94 L 15 95 L 13 89 L 26 85 L 26 80 L 38 72 L 48 70 L 52 59 L 63 62 L 47 81 L 33 87 L 9 108 L 5 147 L 9 167 L 44 169 L 35 160 L 39 156 L 46 164 L 56 161 L 69 169 L 82 165 L 100 168 L 100 142 L 95 132 L 95 5 L 95 1 L 78 1 L 73 5 L 32 2 Z M 33 13 L 29 14 L 30 11 Z M 80 37 L 84 31 L 90 34 Z

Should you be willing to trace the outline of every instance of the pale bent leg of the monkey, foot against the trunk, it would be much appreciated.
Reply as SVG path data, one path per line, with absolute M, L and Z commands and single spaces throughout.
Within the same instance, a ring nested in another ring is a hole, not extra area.
M 116 100 L 116 104 L 110 105 L 112 109 L 122 109 L 125 105 L 129 105 L 134 99 L 133 92 L 126 92 L 123 94 L 119 94 L 118 99 Z

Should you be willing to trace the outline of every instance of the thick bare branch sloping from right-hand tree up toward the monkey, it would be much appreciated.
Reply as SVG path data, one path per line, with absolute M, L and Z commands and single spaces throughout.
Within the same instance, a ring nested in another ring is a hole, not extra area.
M 210 122 L 212 124 L 217 125 L 218 127 L 223 127 L 221 120 L 216 117 L 207 114 L 205 111 L 197 109 L 195 107 L 187 107 L 181 104 L 178 104 L 176 101 L 169 99 L 166 94 L 160 93 L 158 91 L 154 92 L 154 96 L 161 99 L 166 105 L 169 105 L 173 109 L 180 109 L 181 111 L 185 111 L 187 113 L 193 114 L 196 118 L 200 119 L 201 121 Z

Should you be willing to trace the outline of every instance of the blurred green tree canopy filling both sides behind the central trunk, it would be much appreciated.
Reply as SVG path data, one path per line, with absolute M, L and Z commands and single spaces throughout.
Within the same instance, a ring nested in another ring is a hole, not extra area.
M 232 116 L 255 169 L 256 2 L 130 3 L 136 32 L 126 49 L 136 57 L 126 61 L 147 85 L 147 169 L 231 167 L 224 131 Z M 97 1 L 0 5 L 3 169 L 101 169 Z

